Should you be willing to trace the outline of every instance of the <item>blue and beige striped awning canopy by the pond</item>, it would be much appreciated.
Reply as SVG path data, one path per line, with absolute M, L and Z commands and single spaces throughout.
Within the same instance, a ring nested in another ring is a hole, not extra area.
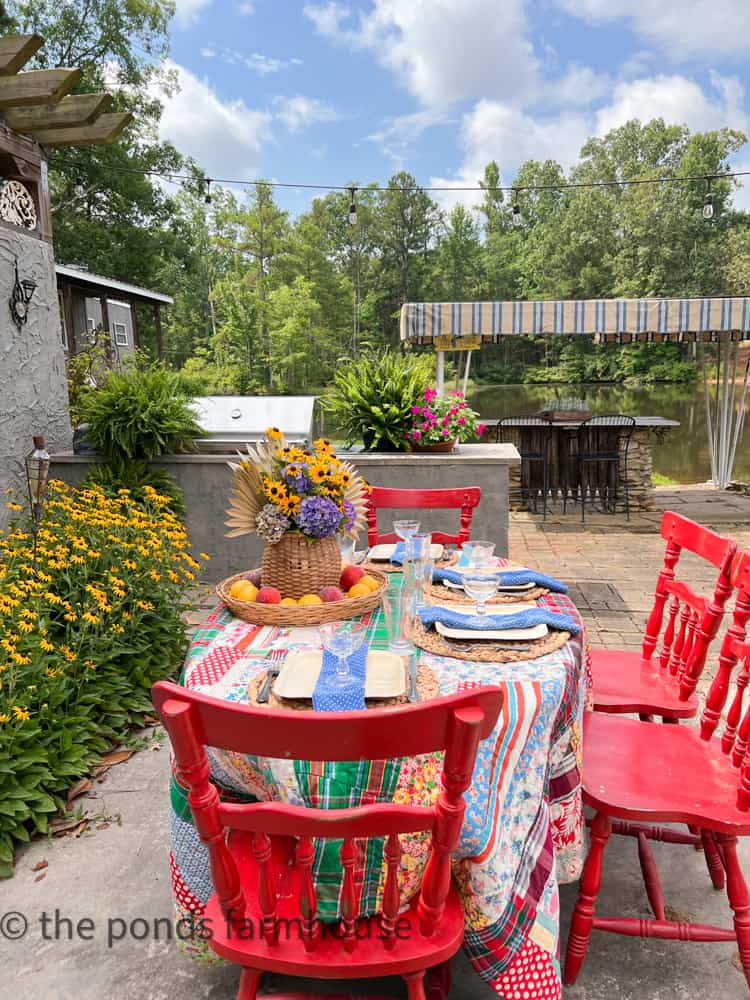
M 407 302 L 401 339 L 417 343 L 508 335 L 588 334 L 604 343 L 750 340 L 750 297 L 535 302 Z M 436 345 L 436 346 L 437 346 Z M 477 345 L 478 346 L 478 345 Z

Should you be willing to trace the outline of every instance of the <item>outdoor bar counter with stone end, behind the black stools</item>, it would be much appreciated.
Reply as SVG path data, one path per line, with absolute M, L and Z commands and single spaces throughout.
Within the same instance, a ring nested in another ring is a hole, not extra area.
M 654 507 L 653 483 L 651 481 L 653 446 L 661 442 L 673 427 L 679 427 L 679 421 L 668 420 L 666 417 L 634 417 L 635 427 L 630 438 L 627 455 L 627 485 L 630 507 L 633 510 L 652 510 Z M 538 450 L 539 442 L 534 440 L 539 433 L 539 425 L 529 421 L 527 426 L 519 417 L 519 424 L 512 427 L 500 427 L 499 420 L 483 420 L 485 425 L 485 441 L 501 441 L 512 443 L 521 450 Z M 567 491 L 570 497 L 570 484 L 575 480 L 575 472 L 571 465 L 576 461 L 576 436 L 583 420 L 553 420 L 551 423 L 552 441 L 549 455 L 549 489 L 553 497 L 561 498 Z M 545 429 L 546 430 L 546 429 Z M 624 458 L 624 455 L 622 456 Z M 511 472 L 511 498 L 515 502 L 520 489 L 529 486 L 528 478 L 532 477 L 532 486 L 536 485 L 540 470 L 524 462 Z M 620 466 L 619 494 L 624 498 L 625 463 Z

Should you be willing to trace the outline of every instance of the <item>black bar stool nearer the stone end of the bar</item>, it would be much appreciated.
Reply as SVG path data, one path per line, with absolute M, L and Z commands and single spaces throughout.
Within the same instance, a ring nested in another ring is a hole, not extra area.
M 578 488 L 581 495 L 581 521 L 586 520 L 586 494 L 594 502 L 596 494 L 602 510 L 614 514 L 620 480 L 620 464 L 625 472 L 625 516 L 630 520 L 628 493 L 628 448 L 635 427 L 635 417 L 608 413 L 584 420 L 578 428 Z

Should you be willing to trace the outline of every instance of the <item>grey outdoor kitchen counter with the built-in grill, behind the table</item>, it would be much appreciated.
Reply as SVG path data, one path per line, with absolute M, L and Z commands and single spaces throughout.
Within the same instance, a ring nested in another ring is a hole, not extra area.
M 509 470 L 521 457 L 512 444 L 464 444 L 450 454 L 390 452 L 338 452 L 351 461 L 373 486 L 406 489 L 450 489 L 479 486 L 482 500 L 474 512 L 471 533 L 495 542 L 498 555 L 508 554 Z M 187 530 L 193 549 L 208 552 L 207 576 L 219 580 L 260 564 L 264 543 L 256 535 L 227 538 L 226 507 L 232 473 L 227 455 L 165 455 L 153 464 L 174 476 L 185 495 Z M 52 456 L 50 474 L 77 484 L 97 459 L 65 452 Z M 406 512 L 402 512 L 405 514 Z M 390 530 L 398 511 L 383 512 L 382 526 Z M 387 522 L 386 523 L 386 519 Z M 427 530 L 458 531 L 458 511 L 431 511 L 424 520 Z M 365 540 L 361 539 L 364 545 Z

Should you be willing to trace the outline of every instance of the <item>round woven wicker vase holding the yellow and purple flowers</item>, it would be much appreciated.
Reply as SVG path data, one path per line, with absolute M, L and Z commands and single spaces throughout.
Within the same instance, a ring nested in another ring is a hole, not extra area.
M 266 545 L 260 564 L 264 587 L 276 587 L 284 597 L 318 594 L 337 587 L 341 552 L 335 538 L 308 538 L 288 531 L 280 541 Z

